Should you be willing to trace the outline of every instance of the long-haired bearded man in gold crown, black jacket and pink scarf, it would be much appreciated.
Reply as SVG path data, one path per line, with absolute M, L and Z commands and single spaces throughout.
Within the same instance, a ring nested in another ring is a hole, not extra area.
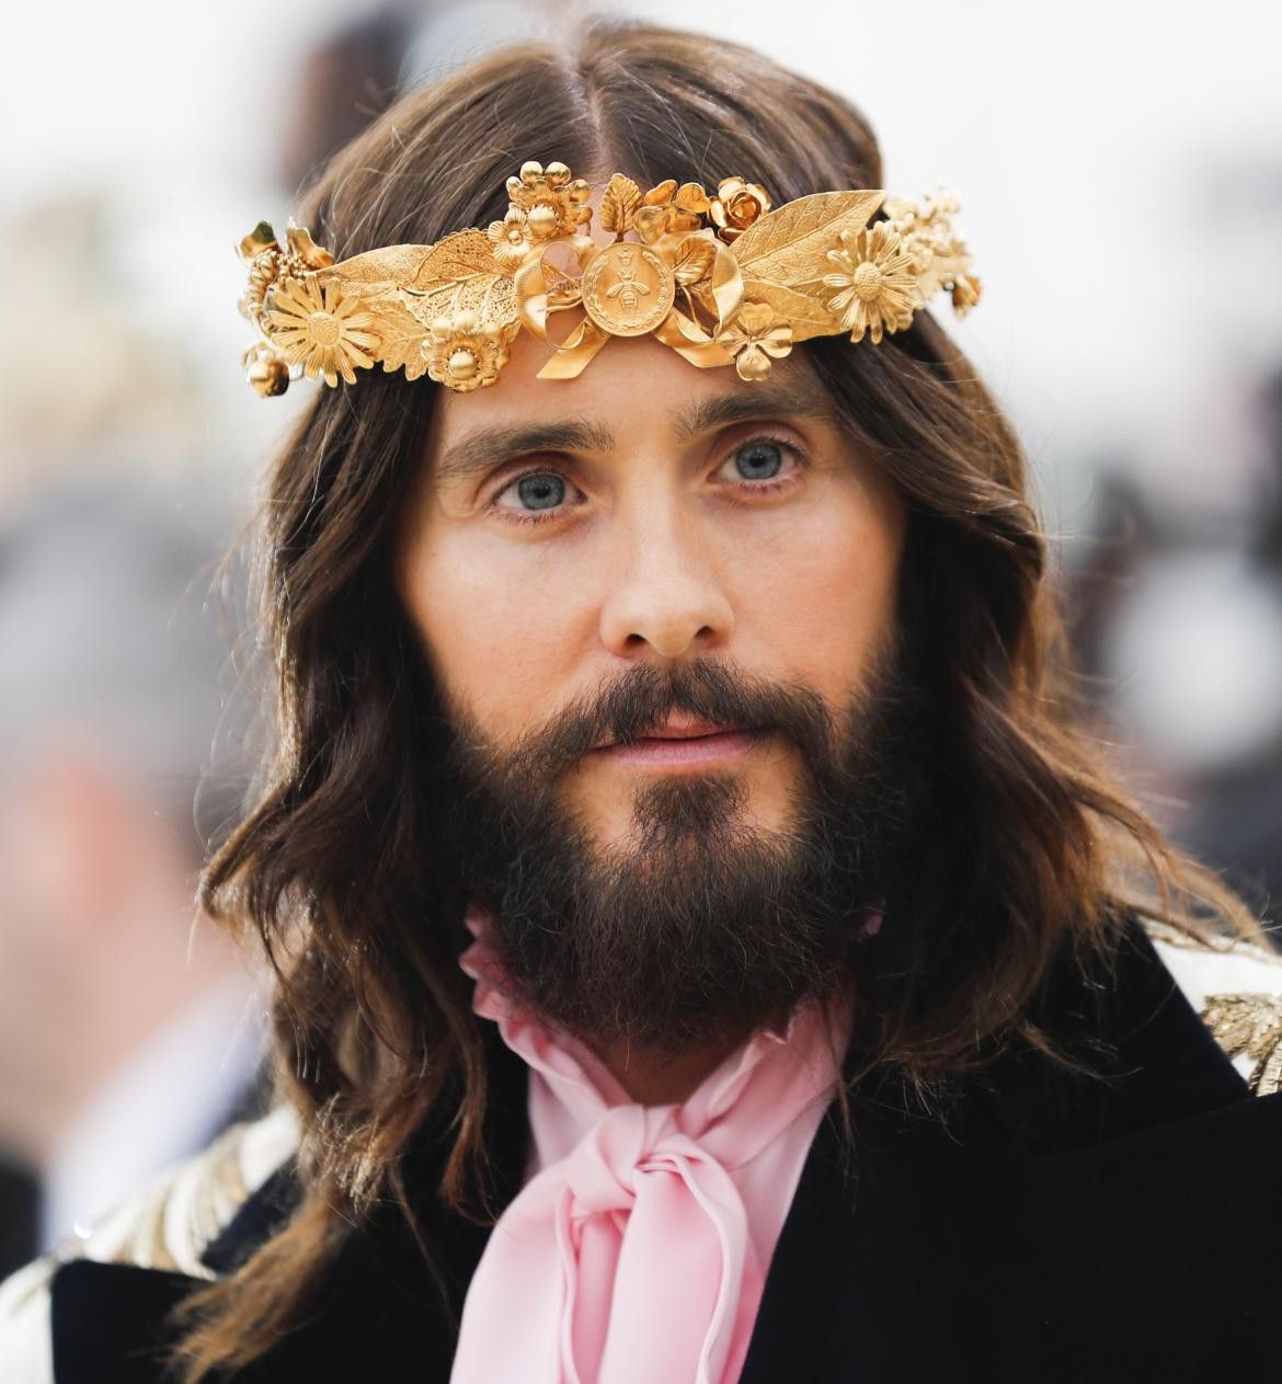
M 1268 1365 L 1282 966 L 1066 714 L 1018 443 L 922 311 L 977 284 L 878 187 L 832 93 L 597 22 L 246 237 L 251 378 L 334 386 L 202 884 L 282 1103 L 7 1287 L 32 1377 Z

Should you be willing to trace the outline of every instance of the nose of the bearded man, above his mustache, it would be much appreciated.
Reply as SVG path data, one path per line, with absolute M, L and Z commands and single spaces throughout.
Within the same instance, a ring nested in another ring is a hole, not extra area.
M 601 609 L 601 639 L 620 657 L 702 653 L 724 642 L 734 612 L 721 561 L 680 512 L 680 501 L 649 505 L 620 525 Z

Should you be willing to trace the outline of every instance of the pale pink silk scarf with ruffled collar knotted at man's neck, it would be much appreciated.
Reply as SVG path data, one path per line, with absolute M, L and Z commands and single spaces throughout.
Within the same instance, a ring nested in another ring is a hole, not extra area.
M 514 998 L 487 916 L 468 927 L 472 1008 L 530 1067 L 533 1153 L 468 1289 L 451 1384 L 735 1384 L 835 1093 L 822 1012 L 757 1034 L 684 1103 L 641 1106 Z M 842 1039 L 849 1024 L 847 1001 Z

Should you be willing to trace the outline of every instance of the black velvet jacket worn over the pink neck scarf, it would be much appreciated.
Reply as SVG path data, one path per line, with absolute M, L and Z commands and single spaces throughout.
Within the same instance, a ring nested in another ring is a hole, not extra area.
M 1092 1012 L 1072 985 L 1051 990 L 1049 1003 Z M 1090 1023 L 1116 1050 L 1108 1086 L 1012 1052 L 962 1084 L 944 1122 L 872 1084 L 856 1096 L 849 1158 L 829 1111 L 770 1265 L 742 1384 L 1282 1378 L 1282 1091 L 1250 1093 L 1138 923 Z M 525 1067 L 497 1039 L 491 1075 L 487 1145 L 509 1197 L 526 1150 Z M 449 1378 L 487 1230 L 435 1204 L 442 1149 L 425 1135 L 411 1189 L 449 1306 L 396 1218 L 375 1218 L 306 1322 L 238 1380 Z M 234 1266 L 295 1194 L 287 1165 L 205 1262 Z M 163 1378 L 154 1351 L 165 1312 L 194 1286 L 126 1265 L 60 1268 L 58 1384 Z

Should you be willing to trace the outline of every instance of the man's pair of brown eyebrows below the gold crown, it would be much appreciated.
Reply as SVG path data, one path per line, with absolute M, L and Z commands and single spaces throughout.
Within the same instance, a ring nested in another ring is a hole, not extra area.
M 763 417 L 817 418 L 836 422 L 827 392 L 809 381 L 796 385 L 755 383 L 732 394 L 701 399 L 671 414 L 669 422 L 677 441 L 710 428 Z M 465 433 L 440 455 L 432 477 L 437 486 L 458 484 L 496 469 L 507 461 L 534 451 L 611 451 L 615 435 L 604 424 L 566 418 L 547 424 L 493 424 Z

